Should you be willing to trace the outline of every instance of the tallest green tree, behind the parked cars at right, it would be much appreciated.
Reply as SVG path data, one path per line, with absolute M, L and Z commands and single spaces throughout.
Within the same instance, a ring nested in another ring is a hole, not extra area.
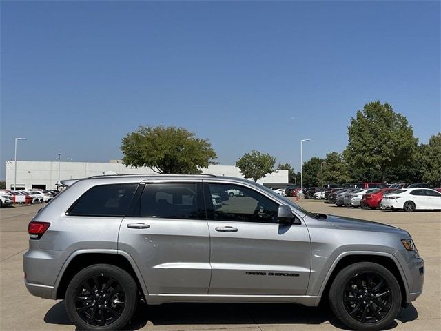
M 378 170 L 382 181 L 398 165 L 409 165 L 418 139 L 406 117 L 393 112 L 389 103 L 367 103 L 351 118 L 345 158 L 351 167 Z

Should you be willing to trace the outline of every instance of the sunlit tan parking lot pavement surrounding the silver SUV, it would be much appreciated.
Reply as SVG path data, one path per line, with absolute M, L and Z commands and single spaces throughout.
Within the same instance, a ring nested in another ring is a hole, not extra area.
M 441 212 L 389 212 L 299 202 L 312 212 L 378 221 L 411 233 L 426 264 L 424 292 L 402 309 L 394 330 L 439 330 L 441 325 Z M 63 301 L 32 297 L 23 285 L 27 225 L 41 205 L 0 210 L 0 330 L 74 330 Z M 131 330 L 338 330 L 345 329 L 326 306 L 291 304 L 167 304 L 141 307 Z

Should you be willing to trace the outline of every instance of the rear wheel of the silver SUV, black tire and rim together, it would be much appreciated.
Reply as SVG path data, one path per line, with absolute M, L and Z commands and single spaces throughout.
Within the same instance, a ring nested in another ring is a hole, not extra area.
M 134 315 L 137 291 L 136 282 L 125 270 L 108 264 L 90 265 L 70 281 L 66 311 L 79 330 L 121 330 Z

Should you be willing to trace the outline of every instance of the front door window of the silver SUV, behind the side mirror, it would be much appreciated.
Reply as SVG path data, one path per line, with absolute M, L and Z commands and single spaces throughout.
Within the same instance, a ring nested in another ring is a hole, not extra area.
M 260 223 L 277 221 L 278 204 L 254 190 L 230 184 L 209 184 L 209 189 L 215 220 Z M 240 194 L 228 194 L 231 190 Z

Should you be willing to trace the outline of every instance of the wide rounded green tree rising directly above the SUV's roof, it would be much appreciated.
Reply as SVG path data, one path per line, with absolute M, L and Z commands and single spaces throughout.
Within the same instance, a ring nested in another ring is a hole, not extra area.
M 164 174 L 199 174 L 216 158 L 207 139 L 174 126 L 140 126 L 123 138 L 123 163 Z

